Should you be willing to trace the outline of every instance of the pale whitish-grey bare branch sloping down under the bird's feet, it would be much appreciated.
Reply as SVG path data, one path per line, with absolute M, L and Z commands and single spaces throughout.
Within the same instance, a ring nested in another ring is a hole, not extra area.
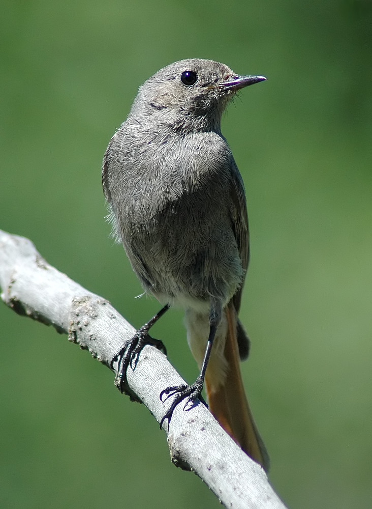
M 67 333 L 107 366 L 134 335 L 135 329 L 107 300 L 50 266 L 28 239 L 1 230 L 0 286 L 2 299 L 18 314 Z M 128 369 L 128 383 L 160 422 L 167 408 L 160 392 L 184 381 L 165 355 L 146 346 L 136 369 Z M 226 507 L 286 509 L 264 470 L 243 453 L 203 404 L 188 411 L 178 405 L 170 429 L 167 421 L 163 428 L 175 465 L 197 473 Z

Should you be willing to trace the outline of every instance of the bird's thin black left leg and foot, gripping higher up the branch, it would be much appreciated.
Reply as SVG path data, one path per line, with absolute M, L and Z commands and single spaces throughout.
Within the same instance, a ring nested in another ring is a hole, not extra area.
M 138 361 L 138 356 L 145 345 L 152 345 L 158 350 L 162 350 L 165 355 L 167 355 L 167 350 L 163 343 L 160 340 L 156 340 L 151 337 L 148 333 L 150 328 L 156 323 L 159 318 L 161 318 L 166 311 L 169 309 L 169 304 L 166 304 L 155 316 L 151 318 L 147 323 L 145 323 L 140 329 L 137 330 L 132 339 L 126 343 L 114 356 L 114 358 L 110 362 L 110 367 L 113 369 L 113 364 L 117 360 L 117 373 L 115 377 L 115 385 L 120 390 L 120 392 L 127 392 L 126 387 L 128 386 L 127 380 L 127 370 L 128 367 L 131 366 L 132 370 L 135 369 Z M 127 392 L 128 393 L 128 392 Z M 129 394 L 131 399 L 133 398 L 133 394 Z

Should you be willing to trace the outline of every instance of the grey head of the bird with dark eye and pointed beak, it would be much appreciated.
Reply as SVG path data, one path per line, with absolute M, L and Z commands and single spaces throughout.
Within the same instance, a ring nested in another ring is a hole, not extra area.
M 219 130 L 233 95 L 264 76 L 240 76 L 227 65 L 187 59 L 164 67 L 140 87 L 132 115 L 180 131 Z

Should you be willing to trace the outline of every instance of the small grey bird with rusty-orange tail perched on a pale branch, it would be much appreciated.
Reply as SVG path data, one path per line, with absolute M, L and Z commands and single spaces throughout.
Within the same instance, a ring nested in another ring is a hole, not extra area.
M 151 325 L 170 306 L 185 310 L 200 376 L 167 387 L 188 407 L 206 386 L 209 408 L 240 447 L 268 469 L 268 455 L 247 403 L 239 368 L 249 339 L 237 318 L 249 261 L 242 178 L 221 133 L 230 99 L 264 76 L 239 76 L 224 64 L 175 62 L 139 88 L 127 120 L 106 150 L 102 183 L 114 232 L 148 294 L 164 307 L 118 352 L 117 385 L 125 389 Z M 202 400 L 203 401 L 203 400 Z

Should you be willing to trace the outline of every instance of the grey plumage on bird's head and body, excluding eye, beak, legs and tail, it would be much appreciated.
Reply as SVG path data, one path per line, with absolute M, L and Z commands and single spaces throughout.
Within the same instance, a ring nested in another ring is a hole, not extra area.
M 190 68 L 199 73 L 191 91 L 179 80 Z M 237 291 L 240 299 L 248 261 L 244 188 L 221 134 L 230 94 L 206 90 L 232 74 L 199 59 L 160 70 L 140 87 L 105 154 L 116 231 L 145 290 L 164 303 L 191 297 L 209 308 L 213 298 L 224 307 Z

